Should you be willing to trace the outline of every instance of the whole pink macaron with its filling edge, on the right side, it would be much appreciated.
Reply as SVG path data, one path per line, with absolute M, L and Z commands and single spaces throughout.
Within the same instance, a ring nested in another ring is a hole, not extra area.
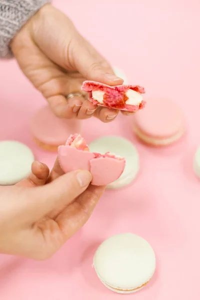
M 144 110 L 133 115 L 132 129 L 144 143 L 166 146 L 180 139 L 185 132 L 181 108 L 171 100 L 148 99 Z

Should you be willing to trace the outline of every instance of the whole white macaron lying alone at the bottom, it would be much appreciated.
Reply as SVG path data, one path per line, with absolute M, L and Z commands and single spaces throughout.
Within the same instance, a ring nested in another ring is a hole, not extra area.
M 97 248 L 93 266 L 100 281 L 117 293 L 138 291 L 151 279 L 155 254 L 149 243 L 132 233 L 120 233 Z

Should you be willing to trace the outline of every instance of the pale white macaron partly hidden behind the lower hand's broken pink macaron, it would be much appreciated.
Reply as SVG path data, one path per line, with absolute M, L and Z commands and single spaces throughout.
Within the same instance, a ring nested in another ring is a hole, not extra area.
M 94 139 L 89 144 L 91 152 L 110 152 L 125 158 L 125 168 L 121 176 L 106 186 L 106 188 L 120 188 L 129 184 L 139 171 L 139 155 L 135 146 L 127 139 L 107 135 Z

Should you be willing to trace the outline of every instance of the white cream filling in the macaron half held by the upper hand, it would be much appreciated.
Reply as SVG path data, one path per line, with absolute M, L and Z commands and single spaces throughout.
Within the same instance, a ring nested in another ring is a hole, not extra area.
M 100 104 L 103 103 L 104 91 L 102 91 L 102 90 L 93 90 L 91 92 L 91 94 L 92 94 L 92 98 L 94 100 L 98 101 Z M 139 92 L 137 92 L 133 89 L 128 89 L 125 94 L 128 97 L 125 104 L 139 105 L 142 101 L 142 95 Z

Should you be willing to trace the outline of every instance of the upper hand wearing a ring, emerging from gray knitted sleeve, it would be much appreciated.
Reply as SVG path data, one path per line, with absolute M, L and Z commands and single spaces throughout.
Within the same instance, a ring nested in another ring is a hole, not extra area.
M 50 4 L 44 5 L 18 32 L 11 49 L 24 74 L 47 99 L 58 117 L 113 120 L 116 109 L 97 107 L 86 100 L 83 80 L 122 84 L 109 63 L 75 29 L 70 19 Z M 66 100 L 71 92 L 80 92 Z

